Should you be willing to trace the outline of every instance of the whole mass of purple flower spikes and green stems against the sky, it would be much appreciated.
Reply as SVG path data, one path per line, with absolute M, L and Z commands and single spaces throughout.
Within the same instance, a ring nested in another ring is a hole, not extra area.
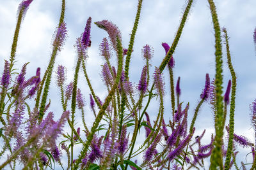
M 239 169 L 236 161 L 239 155 L 238 147 L 252 149 L 248 155 L 253 161 L 247 166 L 250 165 L 251 169 L 256 168 L 256 99 L 250 105 L 252 127 L 255 131 L 255 143 L 252 143 L 245 136 L 234 133 L 236 73 L 230 57 L 227 30 L 223 29 L 224 36 L 221 36 L 216 8 L 212 0 L 209 0 L 209 6 L 216 32 L 216 76 L 211 79 L 208 73 L 205 74 L 204 89 L 201 94 L 198 94 L 199 102 L 191 122 L 188 120 L 189 103 L 180 101 L 181 79 L 176 78 L 173 73 L 177 67 L 173 53 L 193 4 L 192 0 L 186 4 L 172 46 L 162 43 L 165 51 L 163 60 L 152 75 L 149 71 L 154 50 L 147 44 L 142 47 L 141 53 L 145 64 L 141 68 L 141 77 L 137 82 L 129 80 L 129 64 L 133 52 L 134 36 L 140 20 L 142 0 L 138 1 L 138 10 L 128 49 L 122 46 L 122 34 L 117 25 L 109 20 L 94 22 L 109 36 L 103 38 L 99 45 L 99 54 L 104 60 L 101 76 L 108 90 L 105 99 L 97 96 L 86 71 L 93 20 L 89 17 L 84 32 L 74 42 L 77 63 L 73 80 L 70 83 L 66 82 L 65 66 L 56 67 L 56 84 L 60 90 L 58 94 L 60 94 L 62 107 L 59 108 L 59 113 L 49 111 L 51 100 L 48 92 L 51 87 L 51 75 L 56 56 L 67 39 L 67 24 L 64 21 L 65 0 L 62 1 L 60 21 L 54 32 L 51 59 L 47 69 L 41 74 L 41 69 L 38 67 L 35 76 L 26 78 L 29 66 L 26 63 L 19 73 L 15 73 L 15 52 L 19 28 L 32 2 L 33 0 L 24 0 L 19 5 L 19 17 L 10 60 L 4 60 L 1 74 L 0 169 L 19 169 L 20 167 L 23 169 L 54 169 L 55 162 L 62 169 L 205 169 L 205 161 L 209 160 L 210 169 Z M 221 43 L 218 43 L 221 38 L 227 47 L 228 68 L 232 75 L 225 93 L 221 90 L 223 66 Z M 256 46 L 256 28 L 253 41 Z M 114 56 L 118 61 L 117 65 L 111 63 Z M 166 81 L 163 77 L 163 70 L 166 66 L 170 75 L 171 92 L 171 103 L 168 104 L 172 105 L 172 110 L 167 113 L 164 111 Z M 91 92 L 90 102 L 88 102 L 91 112 L 85 110 L 85 97 L 78 84 L 79 71 L 83 72 Z M 176 86 L 175 80 L 177 80 Z M 158 113 L 148 110 L 153 98 L 159 102 Z M 203 144 L 205 131 L 200 136 L 194 134 L 198 112 L 202 104 L 206 102 L 212 108 L 215 133 L 211 134 L 209 143 Z M 228 108 L 230 119 L 226 122 Z M 61 117 L 54 120 L 54 114 L 60 113 Z M 95 119 L 88 120 L 85 113 L 92 113 Z M 150 121 L 154 114 L 156 118 Z M 166 114 L 170 115 L 168 120 L 164 120 Z M 79 121 L 78 118 L 81 118 L 83 125 L 76 124 Z M 89 126 L 88 121 L 93 124 Z M 65 125 L 68 125 L 70 131 L 65 131 Z M 143 132 L 145 132 L 145 139 L 140 146 L 136 146 Z M 227 133 L 226 138 L 224 138 L 224 132 Z M 75 153 L 75 149 L 79 149 L 79 153 Z M 241 162 L 241 167 L 246 169 L 243 162 Z

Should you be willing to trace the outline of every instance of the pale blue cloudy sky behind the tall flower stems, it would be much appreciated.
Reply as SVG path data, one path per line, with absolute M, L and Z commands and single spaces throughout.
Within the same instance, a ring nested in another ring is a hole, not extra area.
M 17 8 L 20 2 L 18 0 L 0 0 L 1 73 L 4 59 L 8 59 L 10 55 L 13 33 L 17 22 Z M 256 1 L 218 0 L 215 2 L 220 25 L 227 28 L 230 36 L 232 63 L 237 73 L 235 132 L 236 134 L 243 134 L 253 142 L 254 133 L 250 125 L 249 104 L 256 98 L 256 57 L 253 45 L 253 31 L 256 27 Z M 56 66 L 57 64 L 62 64 L 67 67 L 68 81 L 72 80 L 72 75 L 74 74 L 74 62 L 76 61 L 74 43 L 76 38 L 83 32 L 87 18 L 92 17 L 93 22 L 108 19 L 118 25 L 122 32 L 123 46 L 127 48 L 129 34 L 131 34 L 136 15 L 137 3 L 138 1 L 135 0 L 67 1 L 65 21 L 67 22 L 68 39 L 56 59 Z M 30 62 L 28 76 L 35 74 L 36 67 L 41 67 L 42 73 L 47 67 L 52 50 L 52 34 L 58 25 L 60 9 L 60 0 L 35 0 L 31 3 L 26 13 L 20 29 L 16 66 L 19 68 L 25 62 Z M 143 66 L 141 57 L 143 45 L 148 44 L 154 48 L 150 73 L 152 74 L 155 66 L 159 66 L 165 54 L 161 43 L 166 42 L 171 45 L 183 11 L 184 1 L 143 1 L 140 24 L 131 59 L 131 81 L 137 83 L 140 78 L 140 71 Z M 102 99 L 106 97 L 107 93 L 100 77 L 100 64 L 103 61 L 102 57 L 99 56 L 99 43 L 106 36 L 108 35 L 105 31 L 92 24 L 92 47 L 88 52 L 89 58 L 86 62 L 86 67 L 92 79 L 93 87 Z M 223 53 L 225 54 L 225 50 L 223 50 Z M 209 4 L 206 0 L 195 1 L 173 57 L 175 59 L 175 81 L 178 76 L 181 77 L 182 96 L 180 99 L 184 103 L 190 103 L 189 118 L 191 118 L 204 88 L 205 73 L 210 74 L 211 80 L 215 74 L 214 31 Z M 223 90 L 225 91 L 231 76 L 228 72 L 226 55 L 223 55 L 223 60 Z M 89 103 L 89 91 L 83 74 L 80 74 L 79 78 L 79 85 L 84 93 L 86 102 Z M 168 85 L 167 71 L 164 71 L 164 79 L 166 80 L 164 118 L 168 120 L 168 115 L 170 115 L 170 85 Z M 54 82 L 52 81 L 50 93 L 52 97 L 57 99 L 52 102 L 51 110 L 58 110 L 60 99 L 57 96 L 59 93 Z M 154 118 L 154 108 L 156 108 L 154 104 L 151 104 L 148 111 L 152 118 Z M 60 113 L 56 113 L 56 118 L 59 117 Z M 200 110 L 195 126 L 197 127 L 196 134 L 200 134 L 204 129 L 207 129 L 207 136 L 209 137 L 214 132 L 213 115 L 209 110 L 209 104 L 204 104 Z M 209 138 L 204 139 L 205 144 L 209 140 Z M 250 150 L 241 150 L 241 153 L 237 155 L 239 160 L 245 161 L 245 155 L 248 152 Z M 248 157 L 248 160 L 251 160 L 251 158 Z

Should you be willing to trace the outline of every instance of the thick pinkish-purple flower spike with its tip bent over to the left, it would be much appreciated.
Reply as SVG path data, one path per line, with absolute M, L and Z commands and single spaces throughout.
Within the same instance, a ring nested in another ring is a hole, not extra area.
M 113 47 L 116 49 L 116 45 L 117 45 L 116 37 L 118 37 L 120 41 L 122 41 L 121 32 L 119 31 L 118 27 L 108 20 L 98 21 L 98 22 L 95 22 L 95 24 L 99 28 L 104 29 L 105 31 L 108 32 L 109 38 L 111 39 L 111 43 Z

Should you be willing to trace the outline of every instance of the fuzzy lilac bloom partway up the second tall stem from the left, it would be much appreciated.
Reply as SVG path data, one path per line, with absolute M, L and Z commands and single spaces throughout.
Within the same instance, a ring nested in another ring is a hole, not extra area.
M 64 45 L 65 40 L 67 38 L 67 24 L 62 22 L 56 31 L 56 36 L 53 41 L 53 46 L 61 50 L 61 46 Z

